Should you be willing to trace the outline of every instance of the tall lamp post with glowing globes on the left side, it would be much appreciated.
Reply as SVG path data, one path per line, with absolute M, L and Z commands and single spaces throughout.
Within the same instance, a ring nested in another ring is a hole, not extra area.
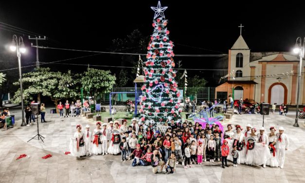
M 17 38 L 16 35 L 13 36 L 12 45 L 10 46 L 11 51 L 17 51 L 18 64 L 19 64 L 19 79 L 20 79 L 20 95 L 21 95 L 21 114 L 22 114 L 22 124 L 21 126 L 26 126 L 24 121 L 24 111 L 23 111 L 23 91 L 22 91 L 22 76 L 21 76 L 21 53 L 25 53 L 25 47 L 22 37 Z

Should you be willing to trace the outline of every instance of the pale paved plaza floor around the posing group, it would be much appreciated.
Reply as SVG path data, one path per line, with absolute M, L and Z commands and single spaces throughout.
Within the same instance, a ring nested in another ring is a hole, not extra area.
M 70 151 L 70 138 L 75 126 L 95 122 L 84 117 L 58 118 L 46 114 L 47 123 L 39 123 L 39 132 L 44 143 L 30 140 L 36 135 L 37 126 L 0 129 L 0 183 L 304 183 L 305 182 L 305 125 L 294 128 L 294 120 L 277 114 L 265 117 L 265 128 L 283 126 L 290 146 L 286 153 L 285 167 L 239 165 L 221 168 L 221 162 L 206 162 L 184 169 L 177 166 L 174 174 L 153 174 L 151 166 L 131 166 L 131 161 L 121 162 L 120 155 L 89 156 L 75 158 L 65 155 Z M 234 115 L 231 124 L 243 127 L 250 123 L 256 128 L 262 126 L 259 114 Z M 226 126 L 228 123 L 224 123 Z M 269 130 L 267 130 L 269 132 Z M 16 160 L 20 154 L 27 157 Z M 41 157 L 52 154 L 49 159 Z M 29 157 L 28 157 L 29 156 Z

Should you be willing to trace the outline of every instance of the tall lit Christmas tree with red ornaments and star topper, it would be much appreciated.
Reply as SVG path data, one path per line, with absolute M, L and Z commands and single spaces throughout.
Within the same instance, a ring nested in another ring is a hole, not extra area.
M 151 7 L 155 11 L 152 23 L 153 35 L 147 47 L 147 61 L 144 67 L 144 85 L 142 86 L 141 121 L 148 124 L 163 125 L 167 120 L 174 119 L 181 122 L 180 101 L 175 82 L 173 42 L 169 40 L 169 31 L 166 28 L 167 20 L 163 11 L 167 7 L 161 7 L 160 1 L 157 7 Z

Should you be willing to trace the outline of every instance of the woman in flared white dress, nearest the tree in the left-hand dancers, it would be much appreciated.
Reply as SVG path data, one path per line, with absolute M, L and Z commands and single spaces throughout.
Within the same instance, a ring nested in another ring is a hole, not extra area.
M 119 122 L 115 121 L 107 152 L 109 154 L 119 154 L 121 152 L 120 142 L 121 142 L 121 135 L 120 135 Z

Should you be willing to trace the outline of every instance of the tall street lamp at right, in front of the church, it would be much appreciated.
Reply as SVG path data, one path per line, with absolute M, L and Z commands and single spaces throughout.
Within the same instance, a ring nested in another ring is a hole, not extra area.
M 302 60 L 304 57 L 304 46 L 305 46 L 305 37 L 303 38 L 303 46 L 302 46 L 302 38 L 298 37 L 295 43 L 295 48 L 293 49 L 293 52 L 295 54 L 299 54 L 300 56 L 300 70 L 299 70 L 299 80 L 298 80 L 298 95 L 297 95 L 297 109 L 295 114 L 295 123 L 293 124 L 293 127 L 299 127 L 298 124 L 298 112 L 299 112 L 299 95 L 300 95 L 300 80 L 302 75 Z

